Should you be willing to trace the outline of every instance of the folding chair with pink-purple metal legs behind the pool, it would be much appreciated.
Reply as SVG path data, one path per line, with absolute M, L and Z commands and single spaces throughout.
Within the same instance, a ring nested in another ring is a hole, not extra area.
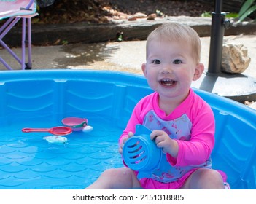
M 7 21 L 0 28 L 0 44 L 4 47 L 12 58 L 18 61 L 21 69 L 31 69 L 31 18 L 38 15 L 36 13 L 36 0 L 0 0 L 0 20 Z M 11 48 L 4 43 L 4 36 L 22 19 L 22 36 L 21 36 L 21 57 L 15 54 Z M 27 33 L 26 33 L 27 27 Z M 28 46 L 28 63 L 26 63 L 26 37 Z M 0 62 L 12 70 L 12 67 L 0 56 Z

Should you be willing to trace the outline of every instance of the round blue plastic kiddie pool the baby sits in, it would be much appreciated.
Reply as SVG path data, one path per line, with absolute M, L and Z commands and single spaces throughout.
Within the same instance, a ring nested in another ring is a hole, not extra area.
M 213 168 L 231 189 L 256 189 L 256 111 L 202 90 L 216 117 Z M 144 76 L 112 71 L 2 71 L 0 74 L 0 189 L 84 189 L 107 168 L 123 166 L 118 138 L 133 107 L 152 93 Z M 63 144 L 24 127 L 62 126 L 81 117 L 93 127 Z

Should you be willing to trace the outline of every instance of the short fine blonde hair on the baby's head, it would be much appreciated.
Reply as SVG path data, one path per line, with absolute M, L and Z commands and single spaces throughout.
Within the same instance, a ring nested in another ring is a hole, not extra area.
M 147 37 L 146 50 L 148 50 L 148 44 L 152 40 L 169 40 L 169 41 L 182 41 L 190 44 L 193 58 L 196 63 L 200 62 L 201 58 L 201 41 L 198 33 L 190 26 L 182 25 L 179 23 L 164 23 Z

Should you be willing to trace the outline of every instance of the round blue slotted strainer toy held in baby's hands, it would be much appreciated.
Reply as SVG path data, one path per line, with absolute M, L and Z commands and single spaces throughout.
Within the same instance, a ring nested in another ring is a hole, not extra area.
M 162 150 L 150 139 L 151 130 L 136 125 L 136 133 L 123 146 L 123 160 L 132 170 L 139 171 L 138 178 L 147 177 L 158 168 Z

